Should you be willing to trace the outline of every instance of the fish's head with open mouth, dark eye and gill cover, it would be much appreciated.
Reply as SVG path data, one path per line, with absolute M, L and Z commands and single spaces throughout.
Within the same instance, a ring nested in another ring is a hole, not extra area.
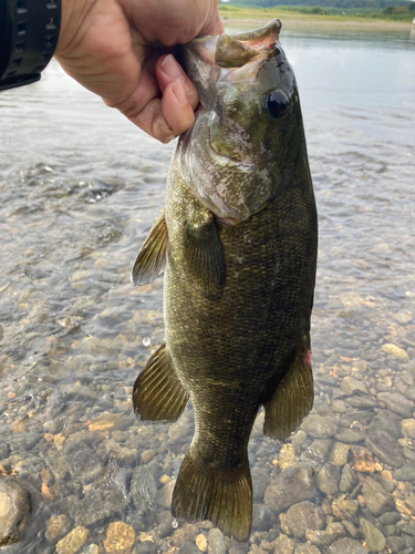
M 200 104 L 176 151 L 180 175 L 203 204 L 236 223 L 276 196 L 298 123 L 280 30 L 276 19 L 258 31 L 200 37 L 184 47 Z

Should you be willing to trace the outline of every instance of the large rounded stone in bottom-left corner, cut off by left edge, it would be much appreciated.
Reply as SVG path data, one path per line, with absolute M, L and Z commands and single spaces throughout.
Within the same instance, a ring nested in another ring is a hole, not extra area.
M 18 543 L 24 535 L 32 511 L 30 492 L 15 481 L 0 481 L 0 547 Z

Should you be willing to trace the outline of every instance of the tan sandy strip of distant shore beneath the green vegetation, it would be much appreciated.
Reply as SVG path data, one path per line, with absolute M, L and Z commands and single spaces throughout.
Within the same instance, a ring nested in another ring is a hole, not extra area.
M 234 11 L 220 9 L 220 18 L 225 25 L 252 27 L 252 29 L 266 24 L 270 19 L 281 20 L 284 29 L 293 28 L 324 28 L 324 29 L 344 29 L 344 30 L 390 30 L 402 31 L 415 29 L 412 21 L 395 21 L 391 19 L 374 19 L 343 16 L 314 16 L 309 13 L 299 13 L 294 11 L 272 8 L 267 10 L 257 10 L 241 8 Z

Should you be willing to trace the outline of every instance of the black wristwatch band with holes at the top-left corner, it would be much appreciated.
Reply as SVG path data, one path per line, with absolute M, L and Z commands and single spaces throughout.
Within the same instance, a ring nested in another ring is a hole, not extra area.
M 39 81 L 60 27 L 61 0 L 0 0 L 0 91 Z

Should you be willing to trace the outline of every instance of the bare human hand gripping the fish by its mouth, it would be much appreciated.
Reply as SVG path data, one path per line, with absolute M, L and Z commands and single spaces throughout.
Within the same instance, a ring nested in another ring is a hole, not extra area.
M 217 0 L 63 0 L 64 71 L 162 142 L 189 129 L 198 95 L 169 52 L 224 31 Z

